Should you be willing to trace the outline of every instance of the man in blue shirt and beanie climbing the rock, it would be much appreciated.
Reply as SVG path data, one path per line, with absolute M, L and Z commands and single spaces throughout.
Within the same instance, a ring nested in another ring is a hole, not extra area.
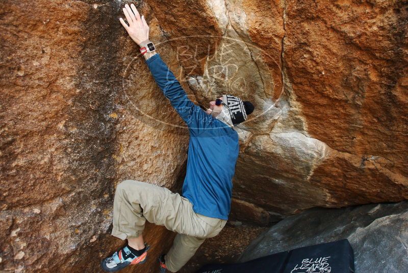
M 147 220 L 177 233 L 169 252 L 159 257 L 161 272 L 176 272 L 206 238 L 218 235 L 225 226 L 239 152 L 234 126 L 245 121 L 254 106 L 232 95 L 211 101 L 206 111 L 195 105 L 149 40 L 144 16 L 134 4 L 126 4 L 123 13 L 127 24 L 122 18 L 120 23 L 139 45 L 164 96 L 188 125 L 190 140 L 182 195 L 137 180 L 124 180 L 117 186 L 112 235 L 127 243 L 101 261 L 101 266 L 117 271 L 144 263 L 150 247 L 142 236 Z

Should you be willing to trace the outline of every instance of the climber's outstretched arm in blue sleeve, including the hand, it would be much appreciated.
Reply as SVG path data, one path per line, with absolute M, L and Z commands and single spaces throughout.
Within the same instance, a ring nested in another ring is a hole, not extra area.
M 122 26 L 126 29 L 131 38 L 140 46 L 149 39 L 149 27 L 142 15 L 140 17 L 135 5 L 125 5 L 123 13 L 129 26 L 120 18 Z M 149 55 L 147 55 L 149 54 Z M 147 55 L 147 56 L 146 56 Z M 146 63 L 156 83 L 163 90 L 164 96 L 170 100 L 171 105 L 187 123 L 190 132 L 198 132 L 211 122 L 208 115 L 199 106 L 195 105 L 188 97 L 180 82 L 174 77 L 169 67 L 162 60 L 161 56 L 155 52 L 144 54 Z

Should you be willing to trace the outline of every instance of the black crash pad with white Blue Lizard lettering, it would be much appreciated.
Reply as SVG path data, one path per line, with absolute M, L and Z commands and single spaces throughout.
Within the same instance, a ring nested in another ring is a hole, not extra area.
M 304 246 L 244 263 L 208 264 L 197 273 L 353 273 L 354 253 L 347 239 Z

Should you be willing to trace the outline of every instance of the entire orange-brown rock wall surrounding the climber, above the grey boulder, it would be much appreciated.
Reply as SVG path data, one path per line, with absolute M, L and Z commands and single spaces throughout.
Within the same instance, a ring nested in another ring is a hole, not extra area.
M 99 271 L 121 244 L 117 183 L 180 191 L 188 130 L 119 23 L 125 3 L 0 2 L 2 271 Z M 406 2 L 135 3 L 192 100 L 256 106 L 237 128 L 236 224 L 408 198 Z M 148 272 L 174 234 L 146 227 Z

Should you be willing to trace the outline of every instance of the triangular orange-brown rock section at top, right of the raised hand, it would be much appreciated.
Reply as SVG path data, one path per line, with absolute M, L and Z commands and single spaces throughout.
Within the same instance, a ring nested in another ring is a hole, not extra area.
M 207 57 L 214 54 L 222 35 L 222 26 L 211 11 L 211 8 L 219 9 L 218 3 L 214 6 L 191 0 L 146 0 L 146 3 L 154 11 L 166 42 L 175 49 L 186 73 L 201 75 Z

